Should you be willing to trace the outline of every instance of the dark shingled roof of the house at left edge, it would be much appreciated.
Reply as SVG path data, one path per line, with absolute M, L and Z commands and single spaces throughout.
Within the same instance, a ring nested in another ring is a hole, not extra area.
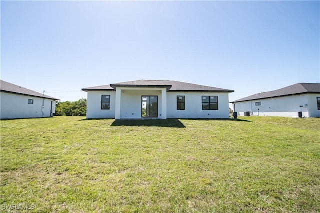
M 7 93 L 19 94 L 19 95 L 28 95 L 28 96 L 33 96 L 33 97 L 47 98 L 47 99 L 52 99 L 52 100 L 60 100 L 60 99 L 53 98 L 48 95 L 43 95 L 43 94 L 35 92 L 33 90 L 29 90 L 24 87 L 20 87 L 18 85 L 11 84 L 11 83 L 8 83 L 8 82 L 2 81 L 2 80 L 0 80 L 0 91 L 7 92 Z

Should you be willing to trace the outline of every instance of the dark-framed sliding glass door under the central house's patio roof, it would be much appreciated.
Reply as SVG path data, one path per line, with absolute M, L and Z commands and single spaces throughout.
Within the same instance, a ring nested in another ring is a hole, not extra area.
M 158 97 L 142 96 L 141 98 L 141 117 L 158 117 Z

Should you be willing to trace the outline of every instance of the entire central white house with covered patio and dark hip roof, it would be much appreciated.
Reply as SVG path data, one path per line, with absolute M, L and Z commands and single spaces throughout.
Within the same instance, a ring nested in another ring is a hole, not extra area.
M 87 118 L 229 118 L 228 93 L 178 81 L 137 80 L 83 88 Z

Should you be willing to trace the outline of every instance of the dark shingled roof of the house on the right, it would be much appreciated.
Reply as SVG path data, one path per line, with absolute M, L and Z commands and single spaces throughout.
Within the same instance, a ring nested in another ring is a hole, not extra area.
M 293 84 L 291 86 L 287 86 L 278 90 L 250 95 L 250 96 L 232 101 L 230 103 L 273 98 L 273 97 L 279 97 L 279 96 L 297 95 L 297 94 L 303 94 L 303 93 L 320 93 L 320 84 L 319 83 L 297 83 L 297 84 Z

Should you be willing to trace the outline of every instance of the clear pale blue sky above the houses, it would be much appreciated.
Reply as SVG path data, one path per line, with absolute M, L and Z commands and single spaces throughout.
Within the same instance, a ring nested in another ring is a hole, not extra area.
M 319 1 L 1 1 L 1 80 L 61 99 L 176 80 L 229 101 L 320 82 Z

